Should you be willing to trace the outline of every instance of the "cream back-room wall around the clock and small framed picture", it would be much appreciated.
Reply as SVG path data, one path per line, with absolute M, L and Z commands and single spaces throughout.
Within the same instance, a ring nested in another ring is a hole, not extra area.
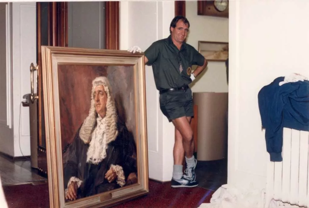
M 186 18 L 190 22 L 187 43 L 198 50 L 198 41 L 228 42 L 228 18 L 197 15 L 197 1 L 186 1 Z M 227 92 L 224 62 L 209 61 L 208 67 L 192 86 L 193 92 Z

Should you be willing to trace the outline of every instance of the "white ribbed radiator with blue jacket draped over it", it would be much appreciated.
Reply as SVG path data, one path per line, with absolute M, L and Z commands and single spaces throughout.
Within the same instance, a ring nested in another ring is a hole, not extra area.
M 271 199 L 309 207 L 309 133 L 283 128 L 282 162 L 268 157 L 266 207 Z

